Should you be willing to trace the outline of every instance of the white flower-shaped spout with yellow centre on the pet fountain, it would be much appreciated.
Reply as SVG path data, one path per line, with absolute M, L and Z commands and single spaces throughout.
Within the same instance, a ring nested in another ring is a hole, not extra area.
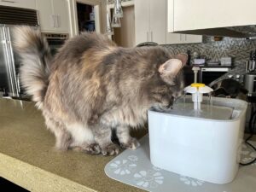
M 192 94 L 192 102 L 194 102 L 194 109 L 201 110 L 202 96 L 204 93 L 211 93 L 212 88 L 205 84 L 190 84 L 184 88 L 184 91 Z

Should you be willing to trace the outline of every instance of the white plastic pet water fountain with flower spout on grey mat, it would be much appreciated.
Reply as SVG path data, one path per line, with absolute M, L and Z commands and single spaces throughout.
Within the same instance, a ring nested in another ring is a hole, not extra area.
M 247 102 L 212 97 L 205 84 L 184 91 L 172 109 L 148 110 L 151 163 L 210 183 L 230 183 L 239 167 Z

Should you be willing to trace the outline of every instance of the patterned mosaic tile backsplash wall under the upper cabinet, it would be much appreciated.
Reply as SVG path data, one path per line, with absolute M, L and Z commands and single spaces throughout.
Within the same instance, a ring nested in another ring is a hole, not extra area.
M 191 59 L 193 59 L 194 52 L 199 55 L 206 55 L 207 59 L 212 61 L 219 61 L 221 57 L 230 56 L 234 63 L 234 68 L 230 70 L 230 73 L 243 74 L 250 51 L 256 49 L 256 40 L 223 38 L 221 41 L 214 41 L 213 37 L 204 37 L 201 44 L 166 44 L 164 46 L 170 49 L 173 54 L 186 53 L 187 50 L 190 50 Z

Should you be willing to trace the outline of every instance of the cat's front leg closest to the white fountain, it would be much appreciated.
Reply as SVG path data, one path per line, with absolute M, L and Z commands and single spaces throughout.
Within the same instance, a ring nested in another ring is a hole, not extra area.
M 119 138 L 119 143 L 122 148 L 136 149 L 140 146 L 140 143 L 137 141 L 137 139 L 130 136 L 130 130 L 128 126 L 117 126 L 116 135 Z

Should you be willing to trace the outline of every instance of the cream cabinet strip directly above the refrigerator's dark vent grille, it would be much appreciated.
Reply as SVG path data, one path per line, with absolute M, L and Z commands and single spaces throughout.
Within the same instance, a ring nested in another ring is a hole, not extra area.
M 17 8 L 36 9 L 36 0 L 1 0 L 0 5 Z

